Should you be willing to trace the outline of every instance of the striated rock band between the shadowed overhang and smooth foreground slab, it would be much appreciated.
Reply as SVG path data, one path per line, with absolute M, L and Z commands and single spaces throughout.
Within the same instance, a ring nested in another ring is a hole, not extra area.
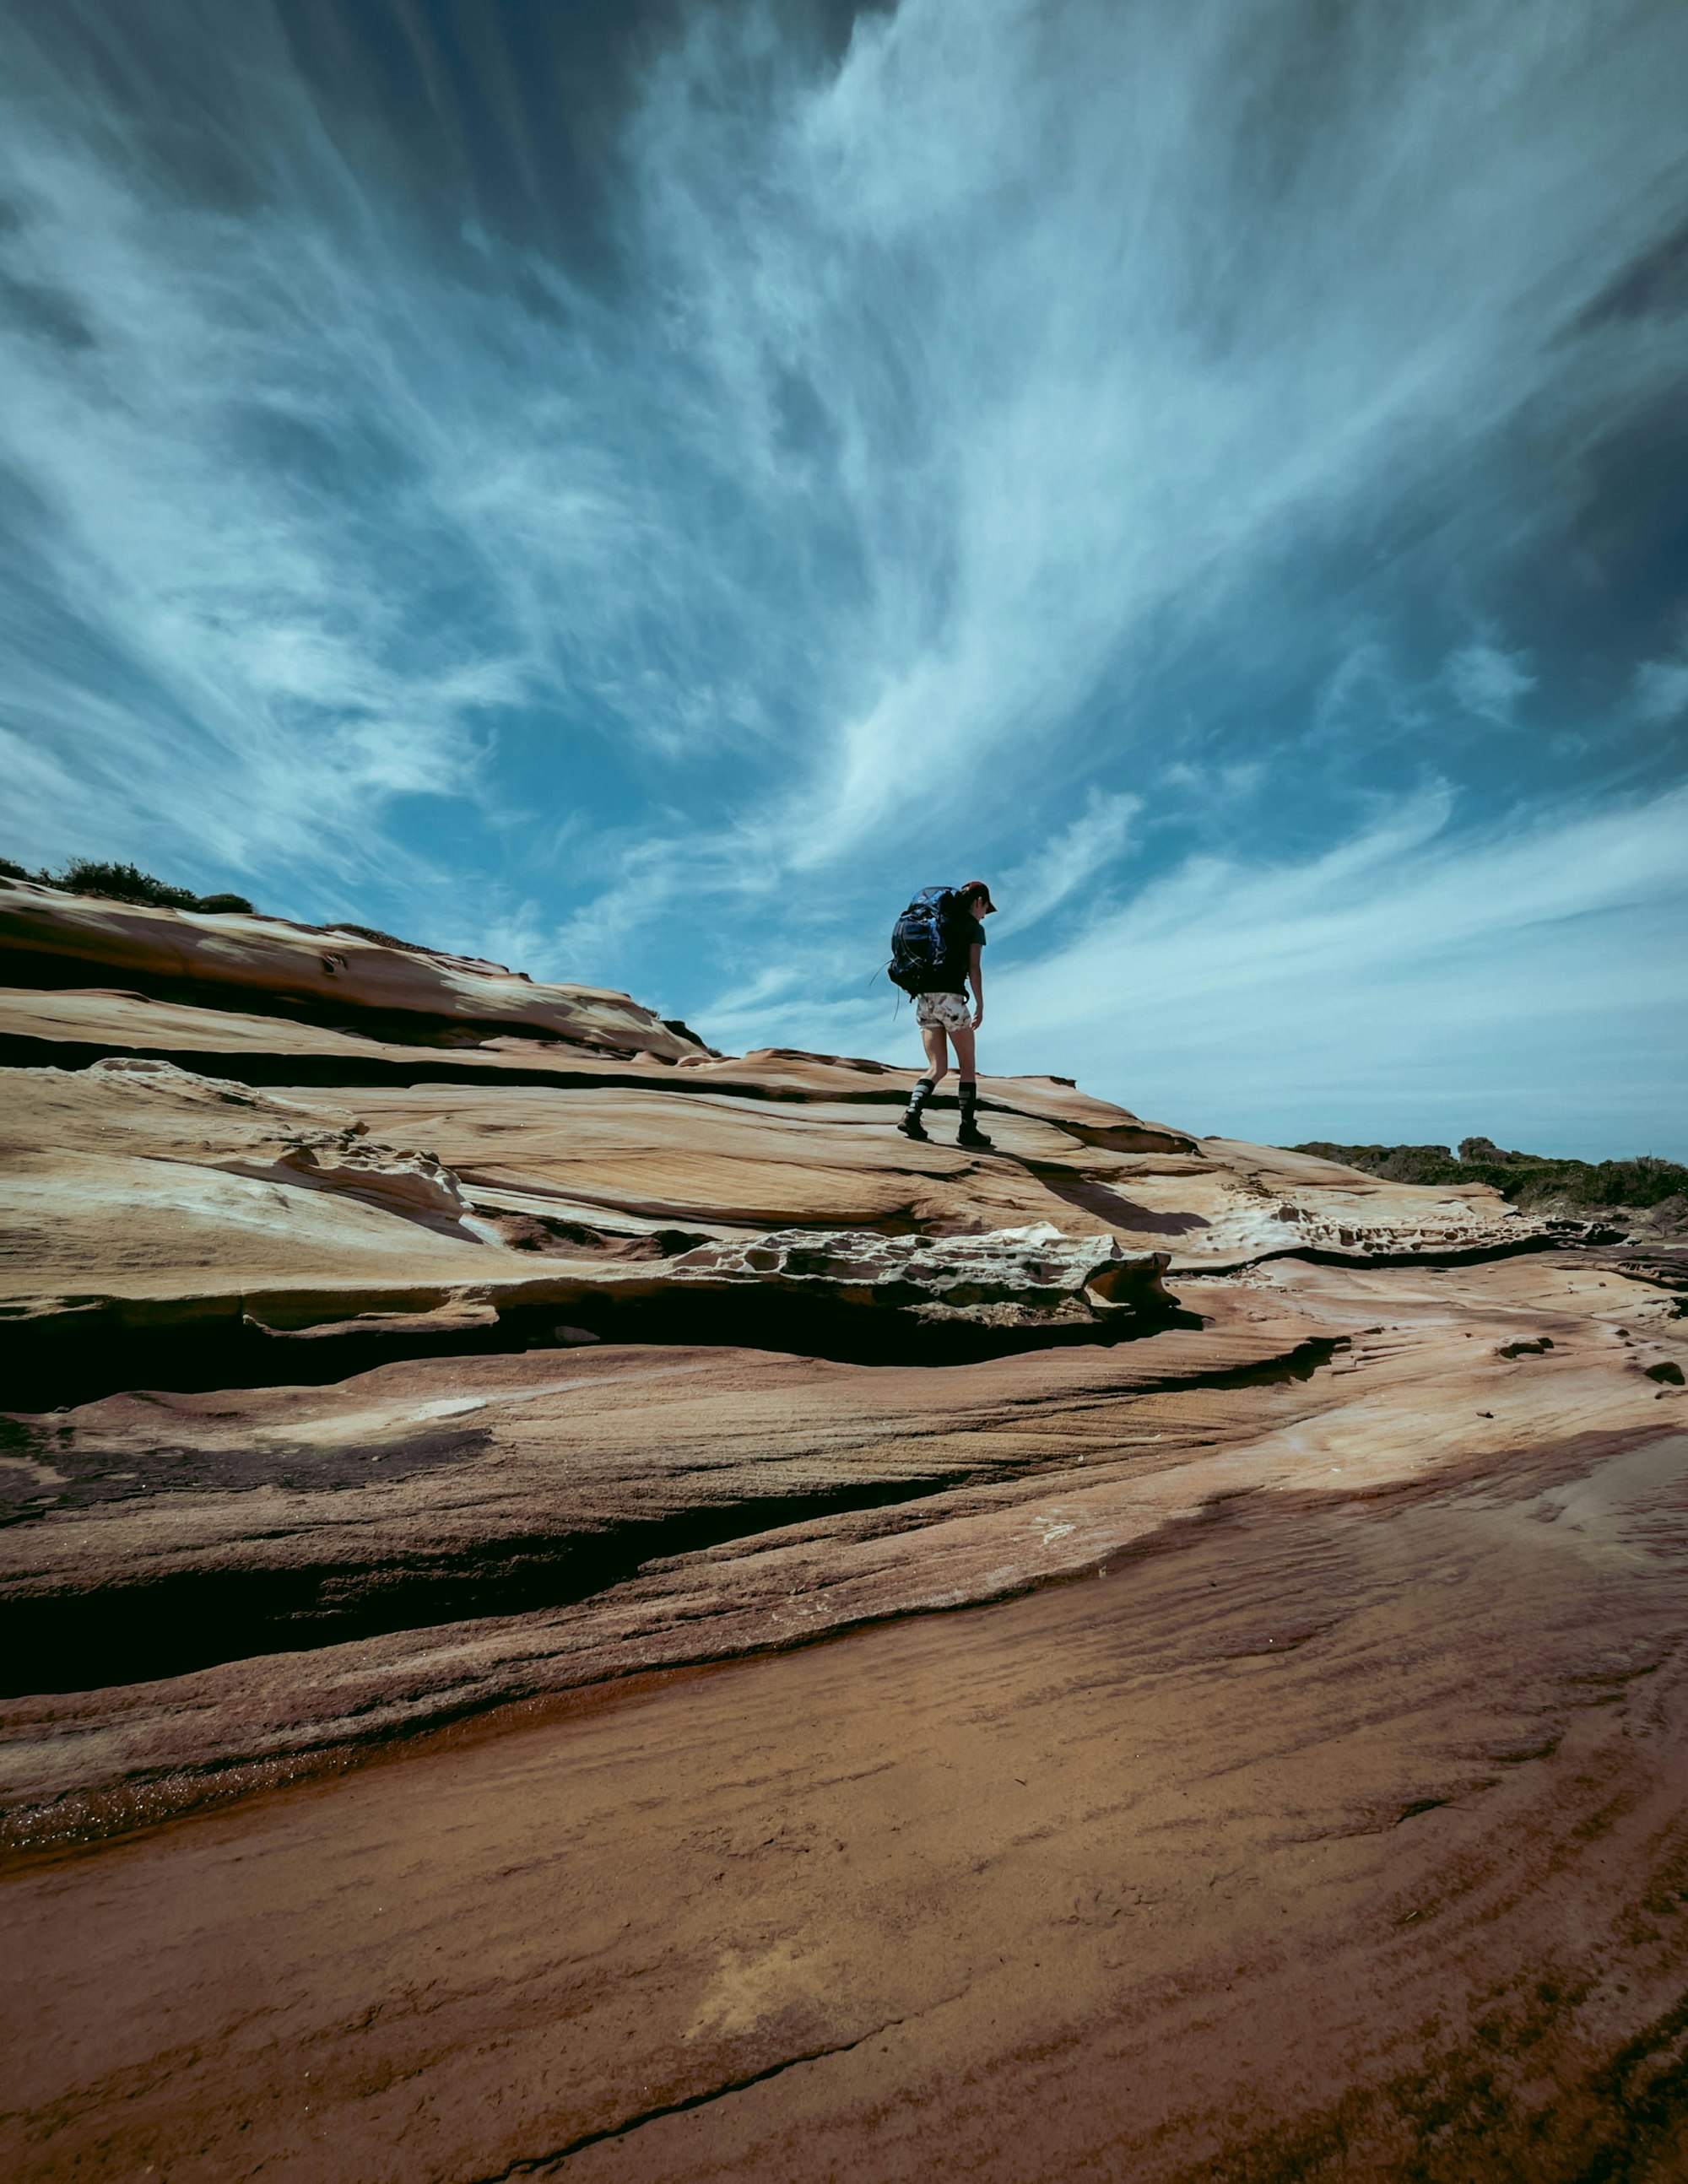
M 1365 1500 L 1520 1450 L 1574 1463 L 1655 1437 L 1684 1400 L 1653 1376 L 1688 1354 L 1673 1302 L 1592 1267 L 1280 1262 L 1188 1295 L 1199 1330 L 959 1372 L 605 1345 L 17 1422 L 15 1830 L 998 1599 L 1236 1494 Z

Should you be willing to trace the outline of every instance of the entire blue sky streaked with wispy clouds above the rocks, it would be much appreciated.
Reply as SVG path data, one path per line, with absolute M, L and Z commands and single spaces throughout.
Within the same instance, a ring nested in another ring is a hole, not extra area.
M 1688 1158 L 1688 13 L 0 4 L 0 850 Z

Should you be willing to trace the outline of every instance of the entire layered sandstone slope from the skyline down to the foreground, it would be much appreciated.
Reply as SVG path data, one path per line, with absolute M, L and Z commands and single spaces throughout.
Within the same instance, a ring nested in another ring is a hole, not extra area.
M 48 895 L 9 2173 L 1668 2173 L 1675 1254 Z

